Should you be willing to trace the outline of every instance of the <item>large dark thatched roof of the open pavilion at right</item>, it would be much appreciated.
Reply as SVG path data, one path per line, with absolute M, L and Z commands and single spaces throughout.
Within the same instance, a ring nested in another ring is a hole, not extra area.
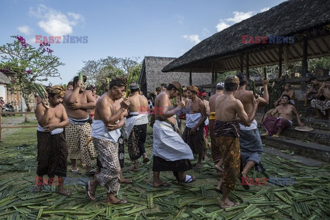
M 303 34 L 308 36 L 308 57 L 330 55 L 330 1 L 289 0 L 210 36 L 191 50 L 164 67 L 163 72 L 212 72 L 212 69 L 230 71 L 241 67 L 240 56 L 250 54 L 249 67 L 278 64 L 281 44 L 241 43 L 241 35 L 293 36 L 287 59 L 301 61 Z M 325 27 L 328 25 L 328 27 Z M 283 44 L 282 44 L 283 45 Z M 245 58 L 245 56 L 244 56 Z M 284 56 L 283 56 L 284 59 Z M 245 65 L 245 60 L 243 61 Z

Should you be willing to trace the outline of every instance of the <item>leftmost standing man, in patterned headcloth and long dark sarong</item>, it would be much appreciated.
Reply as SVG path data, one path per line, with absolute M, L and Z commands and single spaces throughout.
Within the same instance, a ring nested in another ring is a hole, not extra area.
M 42 100 L 36 107 L 38 128 L 38 175 L 34 192 L 40 192 L 43 187 L 43 175 L 50 177 L 49 184 L 54 184 L 54 176 L 58 175 L 59 185 L 56 190 L 61 195 L 71 195 L 69 190 L 63 188 L 63 177 L 67 176 L 67 143 L 63 128 L 69 124 L 65 107 L 61 104 L 64 90 L 61 86 L 47 89 L 48 101 Z M 53 179 L 53 183 L 51 182 Z

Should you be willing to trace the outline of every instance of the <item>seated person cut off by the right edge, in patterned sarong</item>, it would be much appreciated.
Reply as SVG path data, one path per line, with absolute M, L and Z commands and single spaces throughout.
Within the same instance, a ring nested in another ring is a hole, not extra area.
M 315 118 L 322 118 L 321 112 L 326 115 L 327 111 L 328 120 L 330 120 L 330 78 L 325 82 L 325 88 L 320 89 L 319 96 L 324 96 L 325 100 L 311 100 L 311 107 L 316 111 Z

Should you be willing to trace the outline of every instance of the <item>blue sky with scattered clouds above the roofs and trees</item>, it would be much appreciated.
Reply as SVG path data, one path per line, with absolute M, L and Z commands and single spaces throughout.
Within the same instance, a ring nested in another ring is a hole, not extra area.
M 0 1 L 0 45 L 21 35 L 37 46 L 35 35 L 88 36 L 88 43 L 53 43 L 67 83 L 83 61 L 107 56 L 179 57 L 230 25 L 278 5 L 283 0 L 135 0 L 135 1 Z

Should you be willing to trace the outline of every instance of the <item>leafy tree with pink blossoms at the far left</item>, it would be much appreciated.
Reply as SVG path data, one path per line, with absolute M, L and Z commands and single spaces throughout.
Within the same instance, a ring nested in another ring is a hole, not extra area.
M 58 66 L 64 65 L 57 56 L 53 56 L 50 43 L 41 43 L 34 48 L 25 42 L 23 36 L 12 36 L 13 43 L 0 46 L 0 71 L 11 74 L 10 92 L 19 91 L 25 100 L 27 111 L 31 111 L 32 84 L 47 81 L 48 77 L 58 77 Z

